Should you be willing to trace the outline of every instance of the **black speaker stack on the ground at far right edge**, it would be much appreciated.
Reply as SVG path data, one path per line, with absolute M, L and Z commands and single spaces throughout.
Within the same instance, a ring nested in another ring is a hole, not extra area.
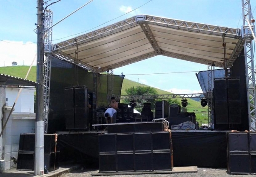
M 228 173 L 256 175 L 256 133 L 227 132 Z

